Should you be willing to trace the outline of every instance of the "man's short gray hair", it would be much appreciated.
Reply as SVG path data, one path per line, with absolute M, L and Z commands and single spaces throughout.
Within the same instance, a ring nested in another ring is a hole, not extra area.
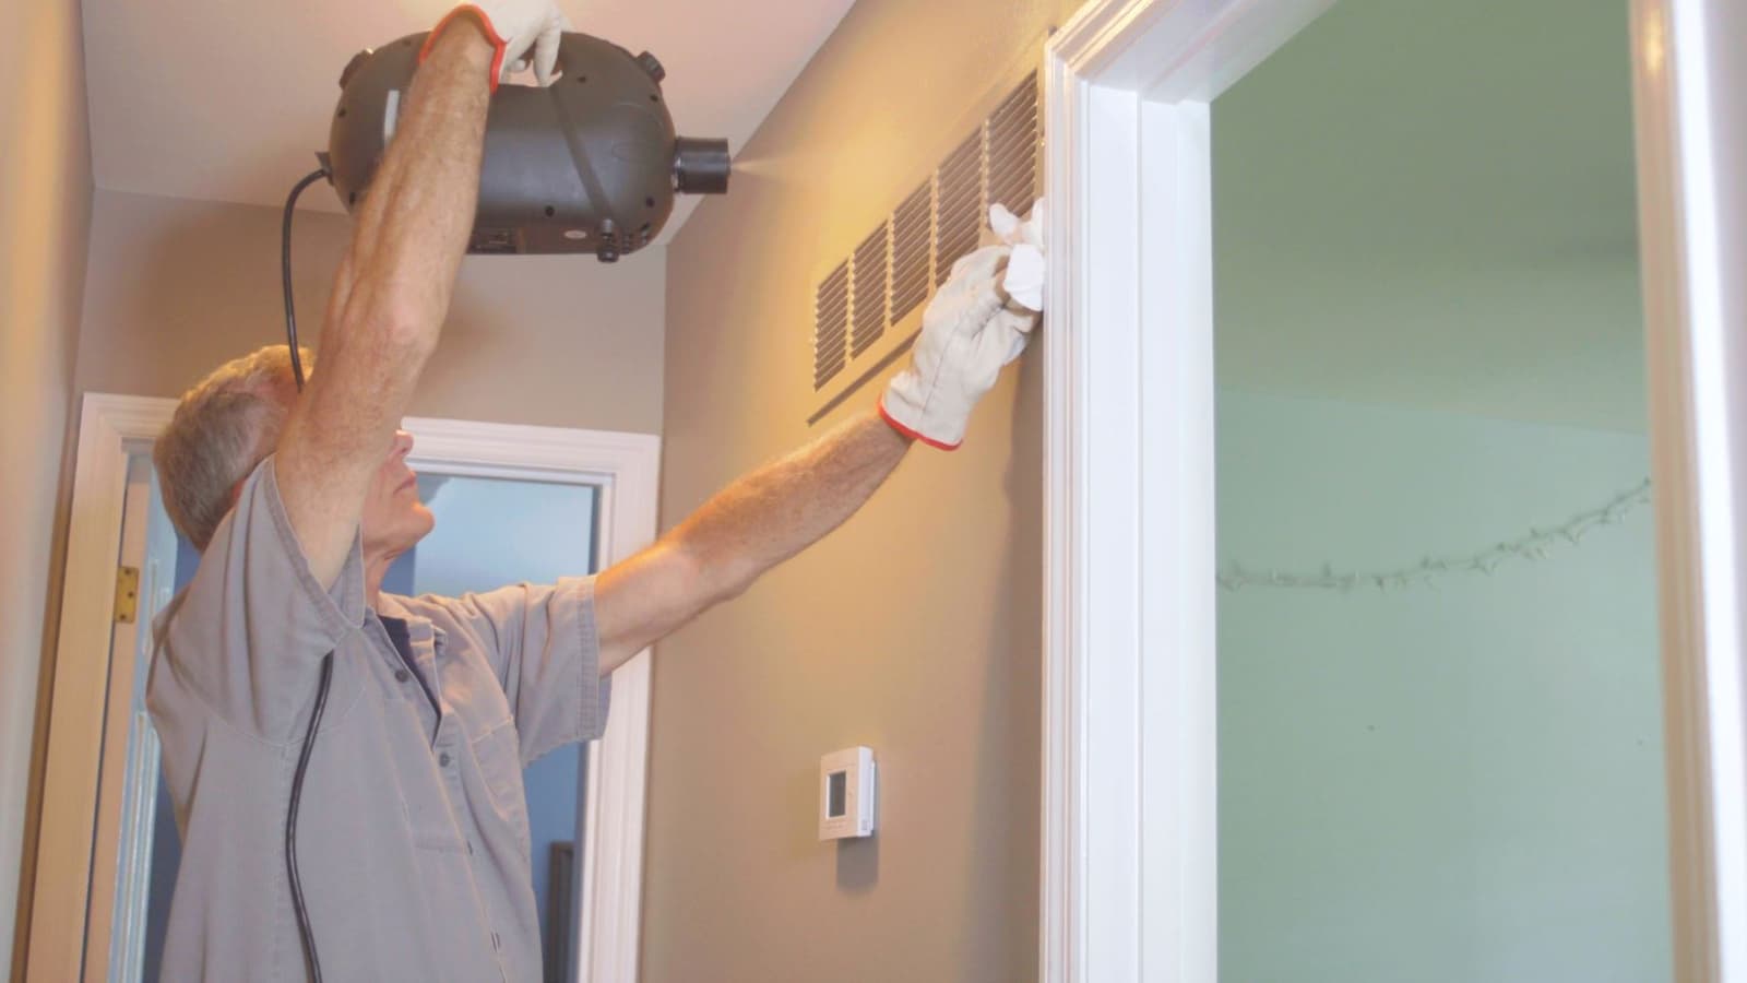
M 313 353 L 299 348 L 306 369 Z M 182 394 L 152 464 L 164 511 L 196 549 L 206 551 L 231 511 L 231 488 L 273 453 L 297 401 L 292 350 L 269 345 L 218 366 Z

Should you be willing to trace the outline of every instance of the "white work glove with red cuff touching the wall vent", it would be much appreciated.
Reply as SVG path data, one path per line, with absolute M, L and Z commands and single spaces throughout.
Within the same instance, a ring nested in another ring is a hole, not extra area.
M 994 387 L 1001 367 L 1025 350 L 1038 311 L 1015 303 L 1019 297 L 1010 296 L 1001 280 L 1008 278 L 1038 308 L 1043 306 L 1041 213 L 1039 203 L 1032 208 L 1036 226 L 1025 233 L 1025 224 L 996 205 L 991 208 L 991 227 L 1005 233 L 996 231 L 989 238 L 1005 241 L 985 245 L 952 264 L 952 276 L 922 311 L 910 366 L 891 380 L 879 404 L 880 415 L 900 434 L 940 450 L 957 448 L 964 441 L 971 408 Z M 1015 276 L 1020 248 L 1031 257 L 1017 271 L 1024 276 Z

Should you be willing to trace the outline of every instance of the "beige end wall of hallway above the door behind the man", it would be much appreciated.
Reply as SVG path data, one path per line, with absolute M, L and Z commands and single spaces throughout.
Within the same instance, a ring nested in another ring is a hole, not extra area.
M 349 229 L 344 215 L 297 215 L 292 269 L 306 345 L 320 336 Z M 662 280 L 660 250 L 617 266 L 468 257 L 412 413 L 657 432 Z M 278 208 L 96 194 L 80 392 L 178 395 L 220 360 L 283 339 Z

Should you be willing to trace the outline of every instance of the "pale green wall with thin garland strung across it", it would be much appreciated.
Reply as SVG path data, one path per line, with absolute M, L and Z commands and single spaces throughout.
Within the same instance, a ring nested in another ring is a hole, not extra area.
M 1642 436 L 1219 395 L 1219 554 L 1417 563 L 1647 474 Z M 1668 980 L 1649 507 L 1436 588 L 1219 593 L 1228 981 Z

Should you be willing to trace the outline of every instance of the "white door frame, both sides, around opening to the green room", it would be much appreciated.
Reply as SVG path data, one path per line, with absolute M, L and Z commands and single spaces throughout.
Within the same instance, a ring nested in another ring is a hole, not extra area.
M 1090 0 L 1045 51 L 1046 983 L 1218 980 L 1207 103 L 1329 3 Z M 1747 0 L 1633 0 L 1675 978 L 1726 983 L 1747 981 L 1747 86 L 1716 66 L 1740 37 Z

